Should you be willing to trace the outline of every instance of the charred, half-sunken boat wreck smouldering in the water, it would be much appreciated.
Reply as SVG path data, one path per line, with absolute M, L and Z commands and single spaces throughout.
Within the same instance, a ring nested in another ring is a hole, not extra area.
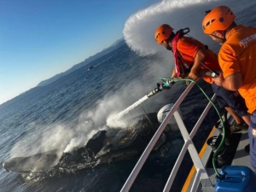
M 54 149 L 31 156 L 15 157 L 5 160 L 3 168 L 6 171 L 20 172 L 27 180 L 38 181 L 40 177 L 52 177 L 61 172 L 76 172 L 119 160 L 131 160 L 143 153 L 159 125 L 156 113 L 148 115 L 141 116 L 135 125 L 125 130 L 116 130 L 114 136 L 109 136 L 104 130 L 98 131 L 83 147 L 73 148 L 71 153 L 60 154 L 59 149 Z M 160 150 L 165 143 L 166 137 L 163 135 L 154 150 Z

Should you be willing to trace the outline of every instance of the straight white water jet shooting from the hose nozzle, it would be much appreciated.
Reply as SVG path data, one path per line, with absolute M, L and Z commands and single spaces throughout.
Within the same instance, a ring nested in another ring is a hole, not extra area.
M 107 119 L 107 125 L 110 127 L 121 126 L 120 119 L 126 114 L 129 113 L 133 108 L 136 108 L 141 103 L 145 102 L 148 99 L 148 96 L 143 96 L 143 98 L 139 99 L 137 102 L 134 102 L 130 107 L 125 108 L 124 111 L 110 117 Z

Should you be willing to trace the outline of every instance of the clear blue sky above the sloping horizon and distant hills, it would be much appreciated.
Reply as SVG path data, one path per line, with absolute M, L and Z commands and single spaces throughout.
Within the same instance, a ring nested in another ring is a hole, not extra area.
M 123 38 L 160 0 L 0 0 L 0 104 Z

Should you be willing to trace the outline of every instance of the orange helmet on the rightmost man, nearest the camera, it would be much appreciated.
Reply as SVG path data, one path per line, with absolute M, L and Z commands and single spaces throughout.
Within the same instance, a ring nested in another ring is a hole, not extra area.
M 235 20 L 236 15 L 227 6 L 219 6 L 207 13 L 202 21 L 203 32 L 210 35 L 212 32 L 226 30 Z

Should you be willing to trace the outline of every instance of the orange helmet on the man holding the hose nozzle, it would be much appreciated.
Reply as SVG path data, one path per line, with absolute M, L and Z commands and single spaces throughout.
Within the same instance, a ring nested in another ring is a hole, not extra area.
M 157 28 L 157 30 L 154 32 L 154 38 L 157 42 L 157 44 L 161 44 L 163 40 L 166 40 L 170 37 L 171 33 L 173 31 L 172 26 L 169 26 L 167 24 L 163 24 Z

